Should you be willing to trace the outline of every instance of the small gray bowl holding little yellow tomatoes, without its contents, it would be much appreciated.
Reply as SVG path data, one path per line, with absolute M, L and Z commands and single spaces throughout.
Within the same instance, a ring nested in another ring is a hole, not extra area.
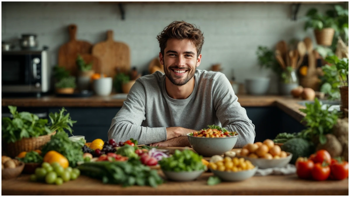
M 218 170 L 212 170 L 210 169 L 214 175 L 218 176 L 224 181 L 243 181 L 245 179 L 248 179 L 255 175 L 255 172 L 257 172 L 258 167 L 255 166 L 255 168 L 251 170 L 242 170 L 239 172 L 227 172 L 227 171 L 218 171 Z

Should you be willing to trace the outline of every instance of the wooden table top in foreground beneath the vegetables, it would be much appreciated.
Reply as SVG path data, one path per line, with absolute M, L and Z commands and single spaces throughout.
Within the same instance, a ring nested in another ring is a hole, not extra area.
M 162 147 L 173 153 L 185 147 Z M 188 148 L 191 149 L 191 148 Z M 233 149 L 236 150 L 236 149 Z M 157 188 L 103 184 L 102 180 L 79 176 L 62 185 L 30 182 L 29 175 L 2 180 L 2 195 L 349 195 L 349 179 L 342 181 L 311 181 L 293 175 L 254 176 L 240 182 L 222 182 L 207 185 L 214 174 L 204 172 L 195 181 L 167 180 L 161 170 L 159 175 L 166 183 Z

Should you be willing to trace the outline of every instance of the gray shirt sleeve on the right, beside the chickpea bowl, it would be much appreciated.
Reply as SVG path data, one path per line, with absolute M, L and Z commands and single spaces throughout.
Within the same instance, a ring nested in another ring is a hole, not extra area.
M 248 118 L 246 110 L 240 106 L 238 97 L 224 74 L 213 81 L 213 106 L 222 127 L 238 132 L 235 148 L 254 143 L 255 126 Z

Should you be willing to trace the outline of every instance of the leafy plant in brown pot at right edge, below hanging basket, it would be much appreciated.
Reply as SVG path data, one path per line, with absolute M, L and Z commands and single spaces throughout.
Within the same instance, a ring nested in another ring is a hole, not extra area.
M 326 57 L 325 61 L 334 65 L 339 79 L 340 109 L 349 109 L 349 59 L 338 59 L 336 55 Z

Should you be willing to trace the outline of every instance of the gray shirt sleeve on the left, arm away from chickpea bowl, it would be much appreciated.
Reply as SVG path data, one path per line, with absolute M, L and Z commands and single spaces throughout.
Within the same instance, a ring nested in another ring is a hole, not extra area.
M 142 127 L 142 121 L 146 120 L 146 91 L 141 80 L 135 81 L 131 87 L 123 107 L 112 119 L 111 127 L 108 131 L 108 139 L 117 142 L 125 142 L 134 138 L 139 144 L 150 144 L 167 140 L 165 127 L 149 128 Z

